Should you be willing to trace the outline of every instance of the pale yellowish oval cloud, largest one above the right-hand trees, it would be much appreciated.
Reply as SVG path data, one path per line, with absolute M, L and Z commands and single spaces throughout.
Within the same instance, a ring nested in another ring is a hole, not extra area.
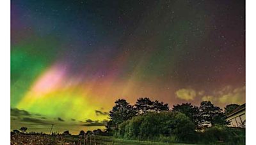
M 182 88 L 180 90 L 177 90 L 175 92 L 175 95 L 177 98 L 182 100 L 193 100 L 196 97 L 196 92 L 191 88 L 189 89 Z

